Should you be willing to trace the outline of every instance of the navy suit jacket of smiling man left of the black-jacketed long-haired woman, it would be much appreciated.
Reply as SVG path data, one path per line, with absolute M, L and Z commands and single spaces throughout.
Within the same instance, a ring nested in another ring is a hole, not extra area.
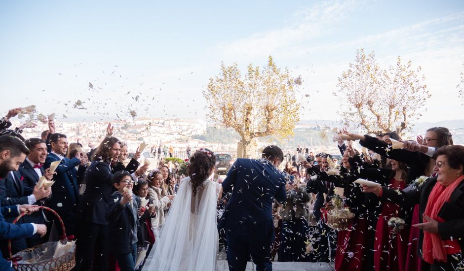
M 57 155 L 49 153 L 45 159 L 44 168 L 49 168 L 50 164 L 59 161 Z M 76 210 L 79 203 L 79 185 L 78 180 L 85 173 L 85 168 L 80 167 L 76 170 L 76 166 L 80 164 L 77 158 L 68 159 L 66 157 L 61 160 L 60 165 L 56 168 L 56 174 L 53 176 L 55 183 L 51 187 L 51 198 L 45 203 L 54 210 Z

